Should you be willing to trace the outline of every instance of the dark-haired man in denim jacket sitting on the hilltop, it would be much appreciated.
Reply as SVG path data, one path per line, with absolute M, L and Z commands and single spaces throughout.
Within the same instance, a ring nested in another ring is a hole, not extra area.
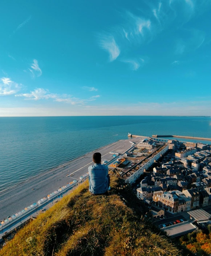
M 108 194 L 110 177 L 108 167 L 101 165 L 101 153 L 93 154 L 94 165 L 89 166 L 89 191 L 94 195 Z

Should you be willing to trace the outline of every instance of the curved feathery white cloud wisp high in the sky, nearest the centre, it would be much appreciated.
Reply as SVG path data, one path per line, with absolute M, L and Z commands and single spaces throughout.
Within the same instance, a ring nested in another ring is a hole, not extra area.
M 100 47 L 109 53 L 110 61 L 117 59 L 120 54 L 119 47 L 113 36 L 103 36 L 100 39 Z

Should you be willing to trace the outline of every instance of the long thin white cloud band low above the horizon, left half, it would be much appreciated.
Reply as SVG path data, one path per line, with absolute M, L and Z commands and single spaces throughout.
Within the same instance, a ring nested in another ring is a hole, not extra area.
M 95 101 L 97 98 L 100 97 L 100 95 L 95 95 L 88 99 L 80 99 L 68 94 L 51 93 L 49 92 L 49 90 L 45 90 L 44 88 L 36 88 L 30 93 L 21 93 L 21 94 L 16 94 L 15 96 L 24 97 L 25 100 L 33 100 L 33 101 L 52 99 L 53 101 L 56 101 L 56 102 L 65 102 L 65 103 L 70 103 L 72 105 L 84 105 L 88 101 Z

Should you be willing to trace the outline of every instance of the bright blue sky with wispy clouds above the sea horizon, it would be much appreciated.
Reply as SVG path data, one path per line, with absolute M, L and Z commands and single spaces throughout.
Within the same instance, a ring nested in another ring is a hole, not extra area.
M 211 115 L 210 0 L 0 7 L 0 116 Z

